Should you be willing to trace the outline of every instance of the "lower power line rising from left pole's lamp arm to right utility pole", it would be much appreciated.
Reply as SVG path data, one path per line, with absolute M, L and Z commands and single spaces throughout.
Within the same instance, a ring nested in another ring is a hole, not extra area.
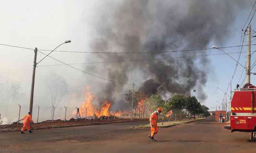
M 240 52 L 228 53 L 228 54 L 237 54 Z M 241 52 L 247 53 L 247 52 Z M 194 57 L 202 57 L 202 56 L 216 56 L 216 55 L 226 55 L 226 53 L 219 53 L 219 54 L 208 54 L 208 55 L 198 55 L 198 56 L 180 56 L 180 57 L 166 57 L 166 58 L 148 58 L 148 59 L 137 59 L 137 60 L 124 60 L 124 61 L 106 61 L 106 62 L 87 62 L 87 63 L 72 63 L 68 65 L 81 65 L 81 64 L 100 64 L 100 63 L 119 63 L 119 62 L 135 62 L 135 61 L 146 61 L 146 60 L 161 60 L 161 59 L 175 59 L 175 58 L 194 58 Z M 55 64 L 55 65 L 41 65 L 37 67 L 44 67 L 44 66 L 63 66 L 65 64 Z

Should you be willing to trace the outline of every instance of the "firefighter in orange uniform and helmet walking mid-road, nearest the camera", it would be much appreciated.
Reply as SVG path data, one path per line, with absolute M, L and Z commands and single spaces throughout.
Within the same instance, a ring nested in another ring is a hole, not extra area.
M 155 134 L 157 134 L 158 129 L 157 129 L 157 118 L 158 115 L 162 112 L 161 108 L 157 108 L 157 111 L 153 112 L 149 118 L 149 122 L 150 122 L 150 135 L 148 137 L 150 137 L 150 140 L 155 142 L 156 140 L 154 139 Z

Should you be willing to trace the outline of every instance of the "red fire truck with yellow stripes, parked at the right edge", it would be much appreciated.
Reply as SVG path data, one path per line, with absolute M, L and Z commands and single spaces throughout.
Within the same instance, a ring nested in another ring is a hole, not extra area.
M 231 100 L 230 126 L 231 132 L 251 132 L 250 139 L 256 131 L 256 87 L 250 83 L 235 90 Z

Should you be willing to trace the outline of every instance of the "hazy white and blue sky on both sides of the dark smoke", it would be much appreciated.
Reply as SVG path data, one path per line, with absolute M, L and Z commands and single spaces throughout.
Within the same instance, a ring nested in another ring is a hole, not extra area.
M 253 1 L 252 1 L 253 3 Z M 112 6 L 112 7 L 115 7 Z M 248 9 L 238 9 L 238 15 L 235 17 L 234 23 L 232 23 L 228 29 L 230 29 L 229 36 L 225 37 L 223 42 L 217 40 L 211 41 L 208 46 L 235 46 L 239 45 L 241 37 L 241 27 L 244 25 L 251 9 L 251 5 L 247 6 Z M 60 46 L 57 50 L 66 51 L 92 51 L 91 41 L 94 35 L 96 35 L 93 23 L 97 21 L 99 14 L 97 12 L 108 11 L 108 7 L 104 3 L 99 1 L 5 1 L 0 6 L 0 44 L 23 46 L 28 48 L 38 49 L 54 49 L 65 40 L 71 40 L 71 43 Z M 255 28 L 255 19 L 252 20 L 252 28 Z M 222 29 L 218 29 L 218 33 Z M 245 39 L 247 40 L 247 39 Z M 253 39 L 252 39 L 253 40 Z M 218 42 L 218 43 L 216 43 Z M 247 42 L 245 42 L 246 44 Z M 252 41 L 251 44 L 256 44 L 256 41 Z M 189 49 L 189 48 L 188 48 Z M 193 48 L 194 49 L 194 48 Z M 251 47 L 251 51 L 256 48 Z M 238 52 L 239 48 L 224 49 L 226 52 Z M 242 52 L 246 52 L 247 47 L 243 47 Z M 45 52 L 48 53 L 48 52 Z M 205 54 L 217 54 L 222 53 L 220 50 L 207 50 Z M 170 53 L 176 54 L 176 53 Z M 6 80 L 13 82 L 20 82 L 20 93 L 23 98 L 17 99 L 11 102 L 0 102 L 16 104 L 20 103 L 24 106 L 29 104 L 31 77 L 32 77 L 32 65 L 34 52 L 33 50 L 14 48 L 9 46 L 0 45 L 0 79 L 2 82 Z M 230 54 L 234 58 L 237 58 L 238 54 Z M 65 63 L 83 63 L 83 62 L 100 62 L 101 58 L 93 54 L 83 53 L 63 53 L 53 52 L 51 56 L 62 60 Z M 174 55 L 175 56 L 175 55 Z M 38 54 L 37 59 L 40 60 L 44 57 L 41 53 Z M 252 55 L 252 60 L 256 57 L 256 54 Z M 216 87 L 226 91 L 228 84 L 231 80 L 231 76 L 234 72 L 236 62 L 233 61 L 227 55 L 208 56 L 209 67 L 206 72 L 208 74 L 207 82 L 204 86 L 204 93 L 207 95 L 207 99 L 202 101 L 204 105 L 215 110 L 216 105 L 220 105 L 223 92 Z M 239 61 L 242 65 L 246 62 L 246 53 L 241 54 Z M 36 68 L 35 77 L 35 95 L 34 103 L 45 106 L 51 104 L 47 102 L 47 94 L 45 92 L 45 86 L 43 78 L 51 73 L 56 73 L 62 76 L 69 84 L 70 94 L 63 100 L 62 105 L 70 105 L 72 107 L 79 106 L 82 100 L 76 102 L 72 101 L 72 93 L 77 90 L 84 90 L 87 85 L 90 85 L 92 91 L 98 91 L 101 89 L 102 83 L 107 83 L 106 80 L 101 80 L 93 76 L 84 74 L 76 69 L 68 66 L 43 66 L 60 64 L 51 58 L 45 58 Z M 97 68 L 95 64 L 94 67 Z M 41 66 L 41 67 L 40 67 Z M 198 65 L 200 67 L 200 65 Z M 90 70 L 90 65 L 75 65 L 75 67 Z M 238 66 L 236 75 L 232 82 L 232 90 L 234 90 L 236 84 L 239 81 L 243 68 Z M 256 71 L 256 70 L 255 70 Z M 87 71 L 89 72 L 89 71 Z M 94 74 L 97 71 L 93 71 Z M 98 76 L 107 78 L 105 73 L 98 71 Z M 150 76 L 140 77 L 136 79 L 130 77 L 129 82 L 135 82 L 136 85 L 140 85 Z M 245 77 L 243 74 L 242 79 Z M 1 82 L 0 81 L 0 82 Z M 251 76 L 251 83 L 254 84 L 255 77 Z M 125 89 L 131 88 L 131 86 L 124 87 Z M 196 87 L 195 87 L 196 89 Z M 230 91 L 230 88 L 228 89 Z M 197 90 L 196 92 L 201 92 Z M 195 93 L 191 93 L 192 95 Z M 0 112 L 1 113 L 1 112 Z

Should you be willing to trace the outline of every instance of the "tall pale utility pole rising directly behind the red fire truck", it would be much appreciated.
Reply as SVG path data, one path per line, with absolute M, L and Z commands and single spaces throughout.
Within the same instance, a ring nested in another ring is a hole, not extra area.
M 247 47 L 247 73 L 246 73 L 246 78 L 247 78 L 247 83 L 250 83 L 250 74 L 251 74 L 251 25 L 248 26 L 247 28 L 247 33 L 248 33 L 248 47 Z

